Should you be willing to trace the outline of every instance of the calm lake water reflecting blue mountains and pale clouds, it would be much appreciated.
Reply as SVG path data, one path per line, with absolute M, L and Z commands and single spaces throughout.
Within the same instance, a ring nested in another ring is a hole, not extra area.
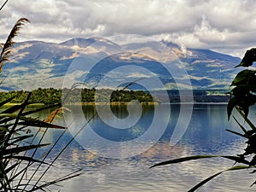
M 191 109 L 191 106 L 188 105 L 187 107 L 188 110 Z M 70 108 L 72 109 L 73 107 Z M 153 169 L 148 169 L 148 167 L 164 160 L 187 155 L 236 155 L 243 153 L 241 146 L 246 146 L 245 141 L 225 131 L 225 129 L 238 130 L 236 123 L 232 119 L 230 121 L 227 120 L 226 104 L 195 104 L 187 130 L 181 140 L 173 146 L 169 142 L 175 125 L 177 125 L 180 106 L 178 104 L 168 104 L 157 108 L 162 108 L 160 112 L 163 114 L 161 115 L 164 115 L 165 108 L 171 108 L 171 118 L 163 136 L 160 137 L 160 141 L 143 152 L 143 154 L 124 159 L 111 159 L 97 155 L 96 151 L 91 150 L 91 148 L 83 148 L 79 144 L 81 140 L 79 142 L 73 141 L 61 154 L 59 160 L 55 161 L 55 167 L 51 169 L 46 178 L 60 177 L 68 172 L 82 168 L 83 175 L 61 183 L 61 191 L 180 192 L 187 191 L 202 179 L 233 166 L 233 161 L 214 158 L 212 160 L 194 160 L 177 165 L 154 167 Z M 83 110 L 84 117 L 74 115 L 78 118 L 76 119 L 77 121 L 79 121 L 79 118 L 90 119 L 96 108 L 84 106 Z M 154 106 L 143 107 L 141 119 L 130 130 L 117 131 L 104 124 L 97 115 L 90 120 L 90 126 L 101 137 L 108 138 L 108 140 L 116 143 L 122 143 L 141 137 L 147 131 L 148 125 L 152 122 L 154 110 Z M 127 116 L 125 106 L 114 106 L 112 111 L 118 118 Z M 252 108 L 252 115 L 255 115 L 255 111 L 255 108 Z M 46 111 L 39 113 L 38 116 L 45 117 L 48 114 L 49 111 Z M 243 121 L 241 120 L 241 122 Z M 63 119 L 58 119 L 55 123 L 64 125 Z M 161 124 L 159 128 L 161 128 Z M 48 130 L 44 143 L 54 143 L 61 135 L 61 132 L 61 130 Z M 83 137 L 84 139 L 86 138 L 83 134 L 78 138 L 81 139 Z M 72 134 L 67 131 L 55 146 L 54 151 L 49 154 L 47 160 L 54 159 L 56 153 L 61 151 L 61 148 L 70 139 L 72 139 Z M 129 147 L 143 148 L 144 145 L 148 144 L 148 141 L 144 142 L 132 143 L 133 146 Z M 130 153 L 131 151 L 129 150 L 131 148 L 124 147 L 116 148 L 115 150 L 116 153 L 119 153 L 119 150 L 122 150 L 122 153 Z M 104 149 L 108 150 L 108 148 Z M 40 153 L 43 154 L 44 149 Z M 248 172 L 250 171 L 225 172 L 198 191 L 255 191 L 256 187 L 249 187 L 254 182 L 255 176 Z

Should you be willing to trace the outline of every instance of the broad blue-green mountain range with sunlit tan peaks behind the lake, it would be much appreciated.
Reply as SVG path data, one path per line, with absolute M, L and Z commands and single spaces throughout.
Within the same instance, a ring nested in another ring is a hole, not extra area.
M 2 89 L 70 87 L 134 89 L 227 89 L 240 58 L 209 49 L 186 49 L 170 42 L 136 39 L 72 38 L 60 44 L 15 44 L 3 67 Z M 131 84 L 131 82 L 133 82 Z M 162 84 L 162 85 L 161 85 Z

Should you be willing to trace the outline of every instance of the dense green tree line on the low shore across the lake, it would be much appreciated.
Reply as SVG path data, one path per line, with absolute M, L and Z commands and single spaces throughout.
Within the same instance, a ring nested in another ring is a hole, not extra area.
M 15 96 L 11 103 L 20 103 L 26 100 L 29 92 L 32 95 L 29 102 L 54 104 L 61 102 L 61 96 L 66 96 L 66 102 L 154 102 L 153 97 L 143 90 L 109 90 L 109 89 L 54 89 L 54 88 L 38 88 L 37 90 L 11 90 L 0 92 L 0 102 Z

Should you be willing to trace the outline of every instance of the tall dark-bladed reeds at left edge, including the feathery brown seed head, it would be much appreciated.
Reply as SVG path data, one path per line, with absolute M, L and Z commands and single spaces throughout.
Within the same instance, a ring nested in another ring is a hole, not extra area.
M 11 49 L 15 44 L 13 38 L 18 34 L 21 26 L 25 22 L 29 22 L 29 20 L 26 18 L 18 20 L 9 33 L 7 41 L 2 45 L 0 72 L 2 72 L 6 61 L 9 61 Z M 38 148 L 50 145 L 50 143 L 43 143 L 48 129 L 61 129 L 63 133 L 67 131 L 66 127 L 52 124 L 55 117 L 63 113 L 63 110 L 67 110 L 67 108 L 61 108 L 61 103 L 58 103 L 37 109 L 29 109 L 27 107 L 32 104 L 29 102 L 31 95 L 31 92 L 28 93 L 24 102 L 14 106 L 3 108 L 8 102 L 14 100 L 15 96 L 0 103 L 0 109 L 2 109 L 0 110 L 0 191 L 46 191 L 51 185 L 65 181 L 68 178 L 77 177 L 81 174 L 81 170 L 78 170 L 63 177 L 43 179 L 46 172 L 50 169 L 55 169 L 53 163 L 58 159 L 63 150 L 60 154 L 56 154 L 54 161 L 46 162 L 48 154 L 53 150 L 59 140 L 52 144 L 52 147 L 49 148 L 44 158 L 36 158 Z M 56 109 L 49 114 L 47 119 L 35 119 L 31 117 L 32 114 L 49 108 Z M 38 131 L 32 134 L 31 127 L 38 127 Z M 38 133 L 42 128 L 44 128 L 44 134 L 37 141 L 36 137 L 38 137 Z M 43 172 L 42 165 L 48 166 L 48 168 L 41 175 L 40 172 Z M 32 172 L 32 170 L 34 171 Z

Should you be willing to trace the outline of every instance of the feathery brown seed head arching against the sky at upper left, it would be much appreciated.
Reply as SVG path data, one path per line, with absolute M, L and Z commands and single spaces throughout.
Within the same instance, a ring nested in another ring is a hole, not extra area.
M 15 26 L 13 27 L 12 31 L 9 33 L 9 36 L 5 44 L 3 45 L 3 49 L 0 54 L 0 73 L 2 71 L 4 63 L 6 61 L 9 61 L 9 55 L 11 53 L 11 49 L 15 44 L 15 42 L 13 41 L 13 38 L 15 38 L 15 36 L 18 34 L 21 26 L 23 26 L 25 22 L 30 22 L 30 21 L 26 18 L 21 18 L 15 23 Z

